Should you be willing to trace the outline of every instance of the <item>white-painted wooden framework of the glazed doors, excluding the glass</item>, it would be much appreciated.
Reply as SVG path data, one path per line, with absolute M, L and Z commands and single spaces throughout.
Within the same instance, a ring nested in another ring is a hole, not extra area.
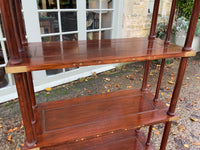
M 26 27 L 26 33 L 28 37 L 28 42 L 41 42 L 41 37 L 48 36 L 40 34 L 40 24 L 39 24 L 39 14 L 38 12 L 46 11 L 46 10 L 38 10 L 37 8 L 37 0 L 22 0 L 22 7 L 23 7 L 23 13 L 24 13 L 24 21 L 25 21 L 25 27 Z M 59 0 L 57 0 L 57 3 L 59 4 Z M 113 18 L 112 18 L 112 27 L 106 28 L 107 30 L 112 29 L 112 38 L 121 38 L 121 32 L 122 32 L 122 18 L 123 18 L 123 0 L 113 0 Z M 85 7 L 84 7 L 85 6 Z M 66 32 L 62 33 L 61 31 L 61 23 L 59 23 L 60 32 L 55 33 L 55 35 L 60 35 L 60 40 L 62 40 L 61 36 L 63 34 L 72 34 L 72 33 L 78 33 L 78 40 L 86 40 L 87 38 L 87 32 L 92 31 L 102 31 L 104 29 L 95 29 L 95 30 L 86 30 L 86 0 L 77 0 L 77 9 L 68 9 L 68 10 L 62 10 L 62 11 L 77 11 L 77 26 L 78 30 L 75 32 Z M 89 9 L 91 11 L 91 9 Z M 107 9 L 105 9 L 107 10 Z M 101 11 L 105 11 L 102 9 Z M 109 9 L 110 10 L 110 9 Z M 48 10 L 49 11 L 56 11 L 56 10 Z M 60 10 L 59 10 L 60 11 Z M 85 12 L 85 13 L 82 13 Z M 60 14 L 60 13 L 59 13 Z M 60 18 L 60 16 L 58 16 Z M 101 17 L 100 17 L 101 18 Z M 59 19 L 60 20 L 60 19 Z M 61 22 L 61 20 L 59 21 Z M 53 33 L 54 34 L 54 33 Z M 49 34 L 49 35 L 53 35 Z M 99 34 L 99 39 L 101 34 Z M 0 42 L 3 48 L 3 54 L 5 59 L 5 64 L 8 62 L 7 60 L 7 54 L 5 50 L 4 42 L 6 39 L 2 35 L 2 31 L 0 29 Z M 5 67 L 5 64 L 1 65 L 0 67 Z M 35 85 L 35 91 L 40 91 L 45 89 L 46 87 L 53 87 L 60 84 L 64 84 L 82 77 L 86 77 L 91 75 L 93 72 L 99 73 L 102 71 L 106 71 L 109 69 L 114 68 L 115 65 L 99 65 L 99 66 L 86 66 L 81 67 L 79 69 L 75 69 L 68 72 L 59 73 L 52 76 L 47 76 L 46 71 L 34 71 L 33 79 L 34 79 L 34 85 Z M 0 89 L 0 103 L 8 101 L 10 99 L 17 98 L 16 88 L 13 83 L 12 75 L 8 75 L 9 78 L 9 85 L 5 88 Z

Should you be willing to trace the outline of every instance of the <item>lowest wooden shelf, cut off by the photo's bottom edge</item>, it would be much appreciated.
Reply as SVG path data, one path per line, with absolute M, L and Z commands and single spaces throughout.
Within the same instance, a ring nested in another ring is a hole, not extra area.
M 44 147 L 41 150 L 155 150 L 150 144 L 145 145 L 145 135 L 134 130 L 99 135 L 97 138 L 64 143 L 53 147 Z

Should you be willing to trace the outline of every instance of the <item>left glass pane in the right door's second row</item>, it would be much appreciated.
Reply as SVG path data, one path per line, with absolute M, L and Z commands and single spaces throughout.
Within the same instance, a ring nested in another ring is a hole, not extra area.
M 86 27 L 87 27 L 87 30 L 99 29 L 99 13 L 98 12 L 87 12 Z

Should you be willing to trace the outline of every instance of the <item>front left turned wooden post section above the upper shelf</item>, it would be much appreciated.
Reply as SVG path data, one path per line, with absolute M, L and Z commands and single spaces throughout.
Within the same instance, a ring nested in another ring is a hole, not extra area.
M 13 26 L 12 15 L 8 0 L 0 0 L 1 15 L 3 27 L 5 30 L 6 41 L 11 64 L 20 64 L 22 59 L 18 51 L 18 45 L 15 37 L 15 29 Z

